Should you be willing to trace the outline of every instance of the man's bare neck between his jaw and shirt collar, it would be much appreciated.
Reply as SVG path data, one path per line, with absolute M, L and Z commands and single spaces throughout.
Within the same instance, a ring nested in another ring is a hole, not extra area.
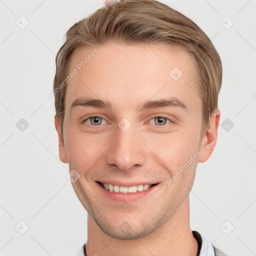
M 195 256 L 197 242 L 189 224 L 189 197 L 187 196 L 178 209 L 154 232 L 139 239 L 120 240 L 103 233 L 93 218 L 87 218 L 87 256 Z

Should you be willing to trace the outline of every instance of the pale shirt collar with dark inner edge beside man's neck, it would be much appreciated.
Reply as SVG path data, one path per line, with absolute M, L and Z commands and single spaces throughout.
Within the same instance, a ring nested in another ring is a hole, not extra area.
M 208 237 L 202 233 L 199 233 L 197 231 L 192 231 L 194 238 L 197 241 L 198 244 L 198 251 L 197 255 L 200 256 L 214 256 L 214 249 L 213 246 L 208 239 Z M 83 247 L 79 250 L 79 252 L 76 254 L 77 256 L 84 256 Z

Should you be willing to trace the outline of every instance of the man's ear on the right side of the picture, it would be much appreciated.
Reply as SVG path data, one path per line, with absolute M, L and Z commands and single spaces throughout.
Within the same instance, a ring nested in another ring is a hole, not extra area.
M 205 162 L 213 152 L 213 149 L 217 142 L 217 131 L 220 118 L 220 111 L 216 109 L 209 118 L 209 124 L 205 128 L 201 141 L 200 141 L 200 152 L 201 155 L 198 157 L 198 162 Z

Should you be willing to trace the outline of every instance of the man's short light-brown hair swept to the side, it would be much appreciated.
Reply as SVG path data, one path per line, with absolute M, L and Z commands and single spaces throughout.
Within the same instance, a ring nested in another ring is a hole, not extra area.
M 207 35 L 189 18 L 156 0 L 120 0 L 113 9 L 100 8 L 71 26 L 66 41 L 56 55 L 53 89 L 55 110 L 61 118 L 62 134 L 66 86 L 59 89 L 67 75 L 74 49 L 104 43 L 160 43 L 180 46 L 195 63 L 202 102 L 204 127 L 217 109 L 222 82 L 220 57 Z

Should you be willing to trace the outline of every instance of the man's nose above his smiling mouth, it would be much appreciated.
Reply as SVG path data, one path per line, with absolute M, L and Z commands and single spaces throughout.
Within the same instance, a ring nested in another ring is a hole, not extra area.
M 132 128 L 123 131 L 117 127 L 116 135 L 109 143 L 106 162 L 120 170 L 143 165 L 146 160 L 146 147 L 133 133 Z

